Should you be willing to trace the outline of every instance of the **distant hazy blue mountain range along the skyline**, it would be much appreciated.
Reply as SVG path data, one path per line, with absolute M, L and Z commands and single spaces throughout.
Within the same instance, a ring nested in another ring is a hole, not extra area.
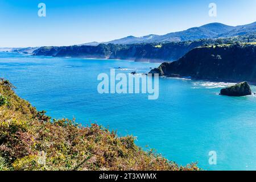
M 146 35 L 142 37 L 127 36 L 104 44 L 137 44 L 152 42 L 180 42 L 186 40 L 226 38 L 230 36 L 246 35 L 256 32 L 256 22 L 242 26 L 228 26 L 222 23 L 209 23 L 201 27 L 193 27 L 188 30 L 172 32 L 166 35 Z M 92 42 L 81 44 L 80 46 L 97 46 L 100 43 Z

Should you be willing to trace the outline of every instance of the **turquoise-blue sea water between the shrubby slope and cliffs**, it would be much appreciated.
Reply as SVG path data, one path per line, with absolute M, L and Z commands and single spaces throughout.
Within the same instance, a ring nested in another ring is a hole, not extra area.
M 148 72 L 159 64 L 124 60 L 34 57 L 0 53 L 0 77 L 16 93 L 53 118 L 97 122 L 119 135 L 138 137 L 179 164 L 207 170 L 256 169 L 256 97 L 219 96 L 229 85 L 177 78 L 159 79 L 158 100 L 147 94 L 98 94 L 99 73 Z M 256 87 L 252 89 L 256 92 Z M 217 152 L 217 165 L 208 163 Z

